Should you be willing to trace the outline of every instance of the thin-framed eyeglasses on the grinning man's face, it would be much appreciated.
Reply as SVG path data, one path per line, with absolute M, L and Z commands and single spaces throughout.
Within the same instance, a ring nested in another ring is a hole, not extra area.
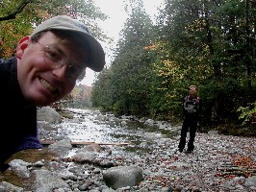
M 71 62 L 70 60 L 67 60 L 64 54 L 62 54 L 60 51 L 57 50 L 54 46 L 47 46 L 44 44 L 41 44 L 37 41 L 37 43 L 42 47 L 43 55 L 44 55 L 44 61 L 46 64 L 51 65 L 52 68 L 60 68 L 63 67 L 64 64 L 67 65 L 66 70 L 66 79 L 70 83 L 76 82 L 76 81 L 82 81 L 85 76 L 85 68 L 79 66 L 79 64 L 75 62 Z

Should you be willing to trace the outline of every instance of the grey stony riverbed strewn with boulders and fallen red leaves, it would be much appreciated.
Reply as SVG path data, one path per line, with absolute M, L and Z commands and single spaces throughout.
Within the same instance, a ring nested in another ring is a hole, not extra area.
M 128 121 L 123 118 L 118 122 L 125 126 Z M 180 130 L 165 122 L 158 125 L 165 132 Z M 49 124 L 42 129 L 47 131 L 40 132 L 42 138 L 56 131 Z M 176 152 L 178 134 L 170 137 L 138 128 L 137 133 L 129 131 L 140 136 L 138 143 L 117 139 L 111 144 L 110 140 L 101 140 L 99 144 L 73 145 L 67 134 L 62 138 L 60 125 L 58 130 L 58 142 L 41 150 L 17 153 L 10 159 L 11 167 L 0 177 L 0 191 L 256 191 L 255 138 L 198 132 L 195 150 L 187 155 Z M 108 183 L 108 171 L 117 167 L 123 170 L 115 172 L 115 183 Z M 130 173 L 134 168 L 136 172 Z

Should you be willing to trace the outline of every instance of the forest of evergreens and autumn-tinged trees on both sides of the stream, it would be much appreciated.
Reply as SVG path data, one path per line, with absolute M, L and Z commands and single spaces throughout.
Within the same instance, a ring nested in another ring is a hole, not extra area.
M 183 98 L 195 84 L 203 127 L 255 132 L 254 0 L 166 0 L 156 22 L 142 0 L 125 4 L 129 17 L 115 60 L 92 86 L 92 107 L 178 122 Z M 33 26 L 57 14 L 80 18 L 98 39 L 111 40 L 97 26 L 107 15 L 92 0 L 3 0 L 0 9 L 1 58 L 12 56 L 18 39 Z

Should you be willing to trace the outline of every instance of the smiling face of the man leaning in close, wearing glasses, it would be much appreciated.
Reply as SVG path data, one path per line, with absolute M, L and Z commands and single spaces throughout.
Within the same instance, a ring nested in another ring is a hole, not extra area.
M 61 100 L 74 87 L 76 81 L 70 81 L 67 77 L 69 67 L 64 64 L 60 67 L 53 67 L 54 63 L 49 61 L 45 52 L 46 47 L 53 47 L 58 54 L 72 63 L 80 63 L 78 67 L 86 67 L 85 54 L 79 50 L 74 43 L 64 41 L 64 39 L 55 36 L 51 32 L 46 32 L 38 39 L 32 42 L 26 36 L 18 44 L 17 57 L 17 80 L 21 91 L 28 104 L 36 106 L 47 106 Z M 50 52 L 51 53 L 51 52 Z M 55 57 L 55 55 L 48 55 Z M 56 60 L 58 62 L 58 60 Z

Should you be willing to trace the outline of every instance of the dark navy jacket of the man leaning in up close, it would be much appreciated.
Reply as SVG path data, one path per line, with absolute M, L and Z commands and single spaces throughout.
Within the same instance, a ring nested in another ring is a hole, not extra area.
M 0 59 L 0 166 L 14 153 L 41 148 L 37 107 L 26 107 L 17 82 L 16 58 Z

